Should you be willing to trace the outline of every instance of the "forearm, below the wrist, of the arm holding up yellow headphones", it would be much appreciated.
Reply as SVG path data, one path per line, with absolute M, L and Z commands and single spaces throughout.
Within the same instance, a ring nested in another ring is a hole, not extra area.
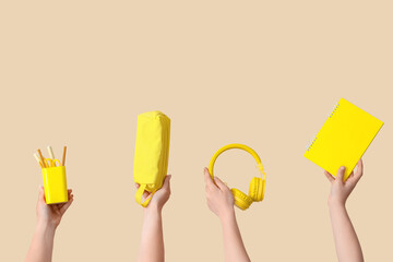
M 250 261 L 236 222 L 235 211 L 224 216 L 221 222 L 223 226 L 225 261 Z

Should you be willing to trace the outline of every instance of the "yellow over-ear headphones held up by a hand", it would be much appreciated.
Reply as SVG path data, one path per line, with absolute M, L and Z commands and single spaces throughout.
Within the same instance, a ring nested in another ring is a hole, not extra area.
M 225 145 L 223 147 L 221 147 L 212 157 L 210 164 L 209 164 L 209 171 L 212 176 L 212 179 L 214 179 L 214 175 L 213 175 L 213 166 L 215 160 L 217 159 L 217 157 L 227 150 L 231 150 L 231 148 L 239 148 L 239 150 L 243 150 L 248 153 L 250 153 L 253 158 L 257 160 L 258 163 L 258 168 L 261 171 L 262 178 L 259 177 L 254 177 L 252 178 L 251 182 L 250 182 L 250 189 L 249 189 L 249 194 L 245 194 L 243 192 L 241 192 L 238 189 L 230 189 L 230 191 L 234 194 L 234 199 L 235 199 L 235 205 L 237 207 L 239 207 L 240 210 L 247 210 L 252 202 L 260 202 L 263 200 L 264 196 L 264 190 L 265 190 L 265 181 L 266 181 L 266 174 L 263 171 L 263 166 L 261 163 L 261 158 L 259 157 L 259 155 L 257 154 L 257 152 L 254 152 L 251 147 L 243 145 L 243 144 L 228 144 Z

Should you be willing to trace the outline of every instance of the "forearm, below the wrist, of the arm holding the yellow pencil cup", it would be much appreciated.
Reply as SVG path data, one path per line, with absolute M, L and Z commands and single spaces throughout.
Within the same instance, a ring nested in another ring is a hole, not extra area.
M 53 250 L 55 226 L 38 223 L 25 262 L 50 262 Z

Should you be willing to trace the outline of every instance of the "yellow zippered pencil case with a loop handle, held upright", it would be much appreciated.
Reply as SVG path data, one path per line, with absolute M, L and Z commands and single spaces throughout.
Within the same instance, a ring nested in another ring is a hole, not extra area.
M 160 111 L 138 116 L 134 181 L 140 184 L 135 200 L 147 206 L 153 194 L 162 188 L 168 169 L 170 119 Z M 143 192 L 150 196 L 142 201 Z

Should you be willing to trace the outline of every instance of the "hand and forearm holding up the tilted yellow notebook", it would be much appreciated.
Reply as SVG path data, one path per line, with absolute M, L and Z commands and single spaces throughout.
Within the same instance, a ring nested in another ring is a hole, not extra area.
M 362 160 L 358 162 L 356 171 L 353 171 L 345 181 L 344 172 L 345 167 L 341 167 L 334 178 L 330 172 L 324 171 L 332 183 L 327 203 L 334 243 L 340 262 L 364 262 L 359 239 L 345 207 L 346 200 L 362 176 Z

